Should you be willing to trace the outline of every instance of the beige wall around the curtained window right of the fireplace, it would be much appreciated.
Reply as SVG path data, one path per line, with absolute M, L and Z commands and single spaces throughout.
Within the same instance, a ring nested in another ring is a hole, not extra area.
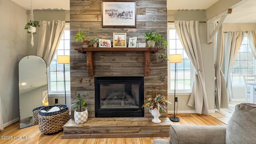
M 174 20 L 198 20 L 206 21 L 205 10 L 168 10 L 168 21 Z M 214 94 L 214 45 L 207 44 L 207 25 L 206 23 L 199 23 L 199 36 L 202 49 L 202 57 L 204 64 L 204 77 L 206 83 L 206 93 L 208 99 L 209 110 L 215 110 L 215 94 Z M 190 95 L 178 95 L 178 111 L 180 113 L 191 113 L 194 108 L 187 105 Z M 168 105 L 168 111 L 174 110 L 174 96 L 168 96 L 168 100 L 172 105 Z

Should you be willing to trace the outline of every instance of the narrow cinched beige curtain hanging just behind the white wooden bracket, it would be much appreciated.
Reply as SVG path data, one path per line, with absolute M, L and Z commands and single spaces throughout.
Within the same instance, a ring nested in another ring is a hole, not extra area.
M 221 70 L 222 63 L 224 59 L 224 40 L 222 37 L 222 26 L 220 26 L 217 33 L 217 42 L 216 42 L 216 98 L 215 98 L 215 106 L 217 110 L 220 108 L 228 108 L 228 92 L 226 88 L 226 82 L 224 78 L 224 74 Z

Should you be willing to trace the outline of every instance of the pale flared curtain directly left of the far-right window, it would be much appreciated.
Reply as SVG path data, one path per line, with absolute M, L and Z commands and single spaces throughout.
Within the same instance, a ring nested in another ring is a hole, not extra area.
M 228 101 L 232 98 L 231 68 L 241 47 L 244 32 L 224 33 L 224 77 L 227 83 Z

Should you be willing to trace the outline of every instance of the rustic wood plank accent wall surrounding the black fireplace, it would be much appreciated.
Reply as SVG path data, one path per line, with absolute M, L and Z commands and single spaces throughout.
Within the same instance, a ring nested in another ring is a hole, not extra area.
M 113 32 L 126 32 L 127 42 L 131 36 L 137 36 L 137 42 L 145 42 L 144 32 L 157 32 L 167 39 L 166 0 L 137 0 L 136 3 L 136 28 L 102 28 L 101 0 L 70 0 L 71 38 L 82 30 L 88 38 L 102 36 L 111 41 Z M 89 118 L 94 118 L 94 77 L 88 77 L 86 54 L 74 50 L 81 45 L 82 42 L 70 43 L 71 101 L 77 100 L 78 93 L 85 95 Z M 145 102 L 156 94 L 164 94 L 167 99 L 167 61 L 158 60 L 157 54 L 151 54 L 150 61 L 150 76 L 144 77 Z M 95 76 L 143 76 L 144 53 L 97 52 L 94 66 Z M 145 117 L 152 117 L 147 108 Z

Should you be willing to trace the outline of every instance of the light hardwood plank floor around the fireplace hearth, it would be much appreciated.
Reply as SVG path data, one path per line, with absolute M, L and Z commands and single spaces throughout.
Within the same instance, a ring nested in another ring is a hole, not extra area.
M 222 126 L 220 122 L 212 116 L 201 114 L 179 114 L 180 122 L 174 124 L 183 125 L 208 125 Z M 0 139 L 0 144 L 152 144 L 154 138 L 88 138 L 88 139 L 61 139 L 63 132 L 51 136 L 41 134 L 38 125 L 19 130 L 19 123 L 16 122 L 0 131 L 0 136 L 12 136 L 12 140 Z M 30 136 L 30 139 L 16 139 L 14 136 Z M 167 138 L 167 137 L 166 137 Z M 169 138 L 167 138 L 169 139 Z

